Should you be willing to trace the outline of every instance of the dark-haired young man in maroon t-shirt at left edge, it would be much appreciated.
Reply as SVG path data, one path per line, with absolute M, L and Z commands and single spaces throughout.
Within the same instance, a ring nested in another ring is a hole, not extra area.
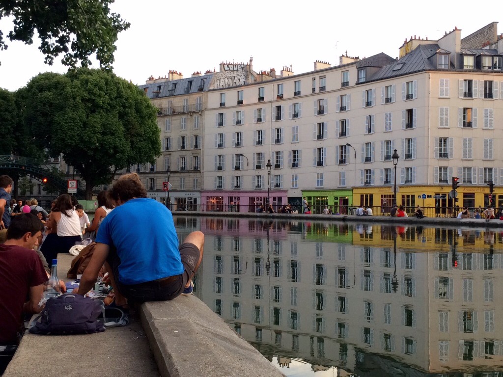
M 43 225 L 30 213 L 12 219 L 7 240 L 0 244 L 0 344 L 15 344 L 23 330 L 22 313 L 38 313 L 47 281 L 33 250 Z M 28 301 L 27 301 L 28 298 Z

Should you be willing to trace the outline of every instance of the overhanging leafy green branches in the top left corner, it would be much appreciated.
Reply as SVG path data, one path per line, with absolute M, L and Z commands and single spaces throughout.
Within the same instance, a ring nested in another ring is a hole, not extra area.
M 35 30 L 41 39 L 39 50 L 45 55 L 45 63 L 51 65 L 54 58 L 63 54 L 61 62 L 75 67 L 91 65 L 89 57 L 96 58 L 103 68 L 110 68 L 114 61 L 117 35 L 130 24 L 116 13 L 110 13 L 114 0 L 0 0 L 0 20 L 14 17 L 11 41 L 33 43 Z M 0 50 L 8 45 L 0 31 Z

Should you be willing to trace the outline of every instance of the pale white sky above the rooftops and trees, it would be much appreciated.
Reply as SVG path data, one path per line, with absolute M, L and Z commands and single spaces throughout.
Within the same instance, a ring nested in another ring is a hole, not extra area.
M 116 0 L 112 12 L 131 27 L 119 34 L 114 72 L 140 85 L 150 75 L 163 77 L 169 70 L 190 77 L 195 71 L 218 71 L 222 61 L 246 63 L 253 56 L 257 72 L 271 68 L 279 72 L 292 65 L 294 73 L 304 73 L 313 70 L 315 60 L 339 64 L 346 51 L 360 58 L 380 52 L 397 57 L 404 40 L 414 35 L 436 40 L 457 27 L 463 38 L 497 22 L 490 14 L 501 14 L 496 8 L 503 9 L 495 6 L 474 17 L 465 7 L 431 0 L 339 4 Z M 503 25 L 498 26 L 502 33 Z M 4 35 L 10 27 L 10 20 L 0 21 Z M 28 46 L 14 41 L 0 51 L 0 87 L 17 90 L 38 73 L 67 70 L 59 63 L 61 58 L 55 58 L 52 66 L 44 64 L 37 42 Z

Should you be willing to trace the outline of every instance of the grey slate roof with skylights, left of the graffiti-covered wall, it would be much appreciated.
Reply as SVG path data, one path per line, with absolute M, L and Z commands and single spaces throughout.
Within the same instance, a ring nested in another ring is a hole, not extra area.
M 197 93 L 198 91 L 207 91 L 212 77 L 213 72 L 198 77 L 187 77 L 179 80 L 154 82 L 150 84 L 139 85 L 138 87 L 142 90 L 147 88 L 146 95 L 150 99 L 171 97 L 189 93 Z M 188 90 L 189 81 L 192 81 L 190 90 Z M 160 90 L 158 91 L 159 86 Z

